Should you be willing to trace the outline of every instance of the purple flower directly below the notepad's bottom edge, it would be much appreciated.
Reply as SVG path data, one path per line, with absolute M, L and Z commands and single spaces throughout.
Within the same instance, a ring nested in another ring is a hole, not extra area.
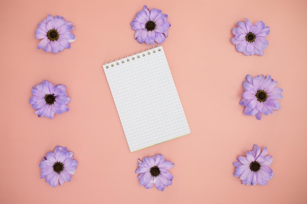
M 172 185 L 174 177 L 168 170 L 173 168 L 175 164 L 165 161 L 163 155 L 145 157 L 143 161 L 138 159 L 138 162 L 139 168 L 135 173 L 139 174 L 137 178 L 146 189 L 152 188 L 154 184 L 158 190 L 163 191 L 165 186 Z

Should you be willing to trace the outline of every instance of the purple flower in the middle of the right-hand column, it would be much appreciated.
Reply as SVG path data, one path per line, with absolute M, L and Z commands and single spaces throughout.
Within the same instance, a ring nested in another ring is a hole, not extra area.
M 244 114 L 256 115 L 256 118 L 260 120 L 261 113 L 267 115 L 272 114 L 273 110 L 280 110 L 281 104 L 278 99 L 282 98 L 283 90 L 276 88 L 277 81 L 271 79 L 270 75 L 266 78 L 264 75 L 253 78 L 248 74 L 242 84 L 244 93 L 240 105 L 246 106 Z

